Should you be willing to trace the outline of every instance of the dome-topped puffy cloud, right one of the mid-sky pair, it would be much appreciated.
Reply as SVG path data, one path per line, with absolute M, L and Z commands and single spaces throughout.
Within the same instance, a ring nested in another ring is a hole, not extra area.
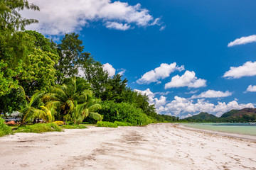
M 164 89 L 184 86 L 191 88 L 203 87 L 206 86 L 206 80 L 198 79 L 195 72 L 186 71 L 181 77 L 176 75 L 171 78 L 171 81 L 165 84 Z

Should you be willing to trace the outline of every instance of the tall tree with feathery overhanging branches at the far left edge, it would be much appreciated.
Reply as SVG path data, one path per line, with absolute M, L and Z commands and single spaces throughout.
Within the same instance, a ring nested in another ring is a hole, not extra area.
M 29 41 L 22 32 L 16 30 L 24 30 L 26 25 L 38 22 L 21 17 L 18 11 L 23 8 L 39 10 L 38 6 L 26 0 L 0 1 L 0 96 L 18 88 L 14 76 L 21 69 L 20 60 L 26 59 L 24 54 Z

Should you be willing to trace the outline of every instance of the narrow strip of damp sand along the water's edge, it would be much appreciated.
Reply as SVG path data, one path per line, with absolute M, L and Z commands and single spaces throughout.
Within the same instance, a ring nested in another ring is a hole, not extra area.
M 232 133 L 232 132 L 220 132 L 220 131 L 215 131 L 215 130 L 203 130 L 203 129 L 199 129 L 199 128 L 187 127 L 186 125 L 182 125 L 182 124 L 178 124 L 178 128 L 182 128 L 182 129 L 186 129 L 186 130 L 193 130 L 193 131 L 197 131 L 197 132 L 207 132 L 210 134 L 220 135 L 223 137 L 234 137 L 235 139 L 238 139 L 238 140 L 247 140 L 250 142 L 256 142 L 256 136 L 254 136 L 254 135 L 244 135 L 244 134 Z

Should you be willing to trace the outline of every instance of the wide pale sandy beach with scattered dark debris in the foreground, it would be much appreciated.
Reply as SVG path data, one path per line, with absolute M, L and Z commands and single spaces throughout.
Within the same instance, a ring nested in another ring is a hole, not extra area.
M 170 123 L 17 133 L 0 138 L 0 169 L 256 169 L 256 137 Z

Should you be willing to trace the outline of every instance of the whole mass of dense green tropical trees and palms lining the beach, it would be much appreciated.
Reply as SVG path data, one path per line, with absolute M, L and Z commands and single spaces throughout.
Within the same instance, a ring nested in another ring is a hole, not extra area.
M 122 75 L 110 77 L 85 52 L 77 33 L 65 34 L 56 44 L 41 33 L 25 30 L 38 21 L 23 18 L 19 11 L 24 8 L 40 10 L 27 0 L 0 2 L 0 113 L 4 117 L 19 111 L 23 127 L 39 120 L 73 125 L 101 120 L 115 125 L 156 122 L 149 98 L 127 87 Z M 78 74 L 81 71 L 84 75 Z

